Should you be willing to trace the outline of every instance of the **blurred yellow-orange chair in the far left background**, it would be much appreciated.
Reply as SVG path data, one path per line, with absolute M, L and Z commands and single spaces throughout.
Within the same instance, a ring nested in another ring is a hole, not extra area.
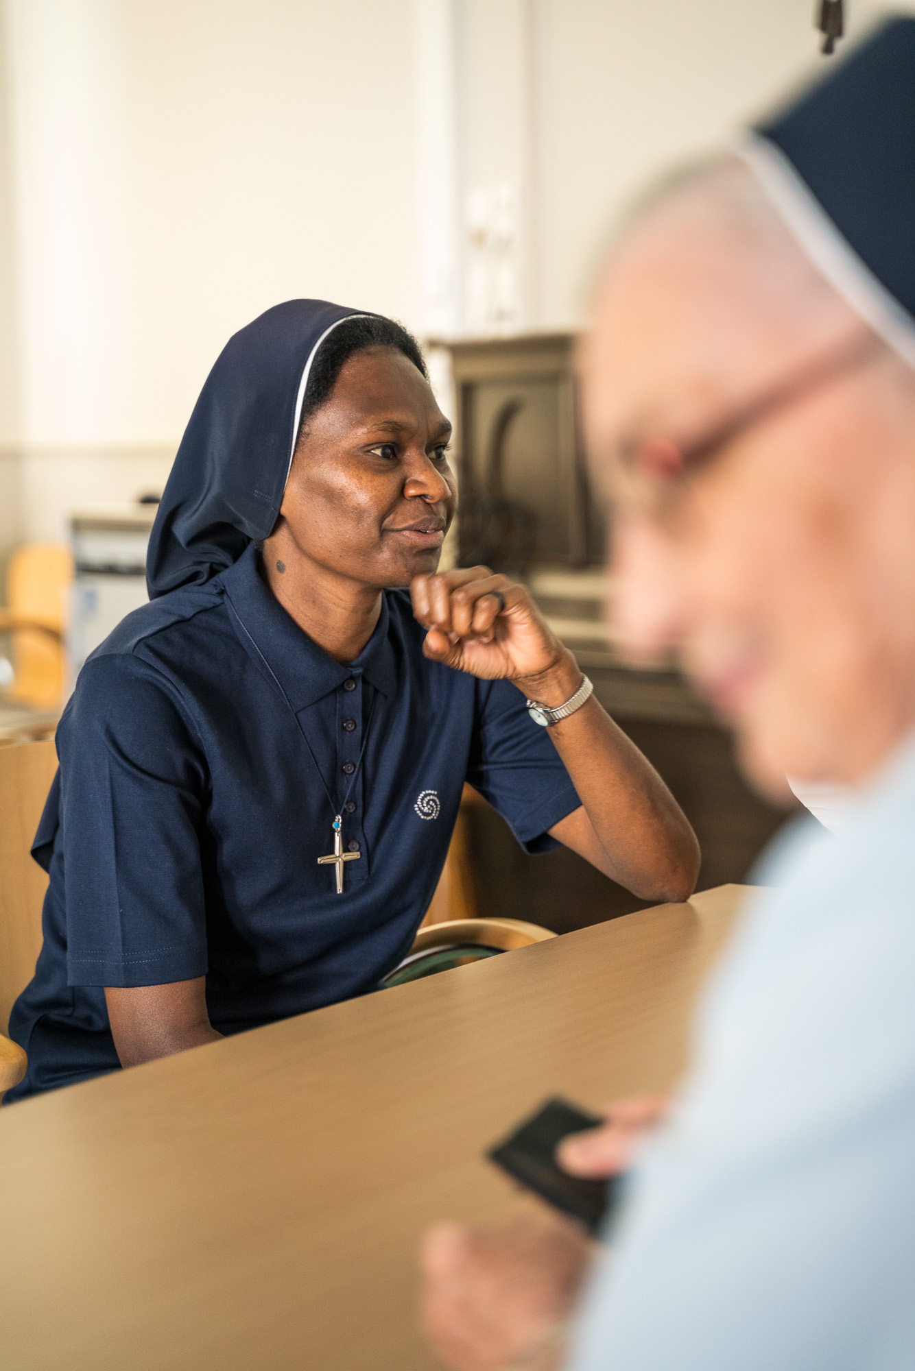
M 22 618 L 63 633 L 67 587 L 73 580 L 73 553 L 66 543 L 26 543 L 7 566 L 7 607 Z M 15 677 L 11 699 L 54 709 L 63 695 L 63 648 L 37 628 L 12 633 Z

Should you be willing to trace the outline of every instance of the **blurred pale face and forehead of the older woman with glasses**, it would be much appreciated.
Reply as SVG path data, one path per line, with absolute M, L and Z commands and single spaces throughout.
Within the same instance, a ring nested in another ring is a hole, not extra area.
M 678 465 L 856 340 L 861 365 L 826 367 L 712 461 Z M 615 500 L 621 640 L 679 654 L 763 788 L 785 772 L 867 775 L 915 727 L 911 370 L 728 158 L 639 207 L 599 281 L 582 373 L 593 470 Z M 674 459 L 630 481 L 624 451 Z

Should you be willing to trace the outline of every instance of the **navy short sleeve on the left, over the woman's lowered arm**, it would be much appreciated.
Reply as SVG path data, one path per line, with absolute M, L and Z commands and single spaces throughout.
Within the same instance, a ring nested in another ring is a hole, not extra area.
M 174 687 L 136 657 L 86 662 L 58 733 L 70 986 L 207 971 L 200 744 Z

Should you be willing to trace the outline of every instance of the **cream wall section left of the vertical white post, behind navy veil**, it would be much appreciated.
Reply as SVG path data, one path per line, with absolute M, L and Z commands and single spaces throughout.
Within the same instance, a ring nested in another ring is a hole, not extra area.
M 417 295 L 412 0 L 3 8 L 0 547 L 161 488 L 261 310 Z

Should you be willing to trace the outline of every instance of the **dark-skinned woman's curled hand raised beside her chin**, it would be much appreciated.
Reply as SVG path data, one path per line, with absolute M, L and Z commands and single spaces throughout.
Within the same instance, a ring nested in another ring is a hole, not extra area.
M 568 668 L 572 654 L 525 587 L 494 576 L 488 566 L 416 576 L 410 595 L 413 613 L 428 629 L 423 651 L 435 662 L 484 680 L 516 683 L 534 683 Z M 580 672 L 568 694 L 579 683 Z

